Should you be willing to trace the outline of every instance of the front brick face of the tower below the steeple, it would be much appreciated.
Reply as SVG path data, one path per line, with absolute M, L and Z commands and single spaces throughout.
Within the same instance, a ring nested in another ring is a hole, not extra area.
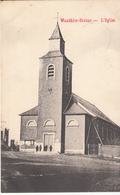
M 47 78 L 47 66 L 54 64 L 55 78 Z M 63 57 L 44 58 L 40 61 L 38 140 L 43 143 L 44 132 L 54 132 L 54 141 L 61 143 Z M 51 91 L 50 91 L 51 90 Z M 52 119 L 54 127 L 46 128 L 44 122 Z

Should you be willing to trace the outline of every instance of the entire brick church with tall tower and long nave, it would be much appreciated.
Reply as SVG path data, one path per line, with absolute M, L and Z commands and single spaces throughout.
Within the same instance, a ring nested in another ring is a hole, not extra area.
M 117 144 L 120 127 L 72 93 L 72 66 L 57 22 L 40 57 L 38 105 L 20 114 L 21 151 L 97 154 L 99 144 Z

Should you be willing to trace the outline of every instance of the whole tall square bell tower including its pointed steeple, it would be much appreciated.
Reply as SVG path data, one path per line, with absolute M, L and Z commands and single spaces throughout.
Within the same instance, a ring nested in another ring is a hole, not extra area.
M 37 139 L 43 151 L 64 152 L 64 110 L 72 91 L 72 62 L 65 56 L 59 24 L 49 38 L 49 52 L 40 58 Z

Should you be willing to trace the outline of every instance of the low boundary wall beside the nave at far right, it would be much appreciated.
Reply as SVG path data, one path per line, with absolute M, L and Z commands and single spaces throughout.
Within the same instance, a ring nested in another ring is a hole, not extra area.
M 120 157 L 120 146 L 116 145 L 99 145 L 99 155 Z

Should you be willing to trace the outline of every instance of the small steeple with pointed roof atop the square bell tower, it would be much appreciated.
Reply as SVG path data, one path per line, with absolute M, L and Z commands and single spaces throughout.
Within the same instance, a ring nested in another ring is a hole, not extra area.
M 50 51 L 60 51 L 62 54 L 64 54 L 65 41 L 62 37 L 58 22 L 49 40 Z

